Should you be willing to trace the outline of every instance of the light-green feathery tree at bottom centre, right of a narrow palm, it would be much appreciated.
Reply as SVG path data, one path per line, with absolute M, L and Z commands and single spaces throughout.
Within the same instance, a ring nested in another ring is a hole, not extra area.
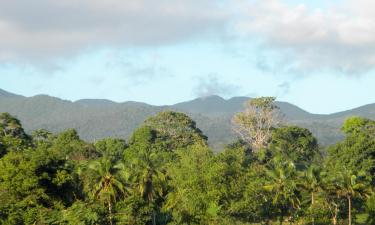
M 179 160 L 168 168 L 171 191 L 164 211 L 172 214 L 175 224 L 215 224 L 220 206 L 219 190 L 210 185 L 212 151 L 196 145 L 178 155 Z

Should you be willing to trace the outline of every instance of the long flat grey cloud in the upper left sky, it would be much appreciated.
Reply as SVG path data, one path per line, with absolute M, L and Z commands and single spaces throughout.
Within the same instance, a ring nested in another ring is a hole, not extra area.
M 210 0 L 0 0 L 0 60 L 173 43 L 217 32 L 226 17 Z

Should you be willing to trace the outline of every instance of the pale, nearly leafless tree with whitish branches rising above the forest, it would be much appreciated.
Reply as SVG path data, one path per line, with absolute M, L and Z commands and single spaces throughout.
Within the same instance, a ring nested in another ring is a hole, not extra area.
M 279 123 L 278 107 L 274 102 L 274 97 L 249 100 L 244 111 L 232 119 L 234 131 L 256 151 L 268 145 L 272 129 Z

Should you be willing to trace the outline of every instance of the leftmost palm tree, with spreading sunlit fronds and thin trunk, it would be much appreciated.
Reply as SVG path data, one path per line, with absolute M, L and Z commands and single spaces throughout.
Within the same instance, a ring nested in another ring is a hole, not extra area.
M 99 161 L 91 162 L 88 169 L 96 174 L 92 194 L 95 199 L 107 205 L 109 222 L 112 224 L 112 204 L 119 196 L 125 194 L 125 185 L 120 179 L 120 173 L 124 172 L 124 165 L 122 163 L 113 164 L 108 158 L 102 158 Z

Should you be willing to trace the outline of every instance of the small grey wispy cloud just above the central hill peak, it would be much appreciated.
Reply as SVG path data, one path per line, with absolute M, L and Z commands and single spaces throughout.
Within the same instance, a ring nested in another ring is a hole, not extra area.
M 194 96 L 207 97 L 211 95 L 231 96 L 238 93 L 239 86 L 227 83 L 216 74 L 207 77 L 197 77 L 197 85 L 193 89 Z

